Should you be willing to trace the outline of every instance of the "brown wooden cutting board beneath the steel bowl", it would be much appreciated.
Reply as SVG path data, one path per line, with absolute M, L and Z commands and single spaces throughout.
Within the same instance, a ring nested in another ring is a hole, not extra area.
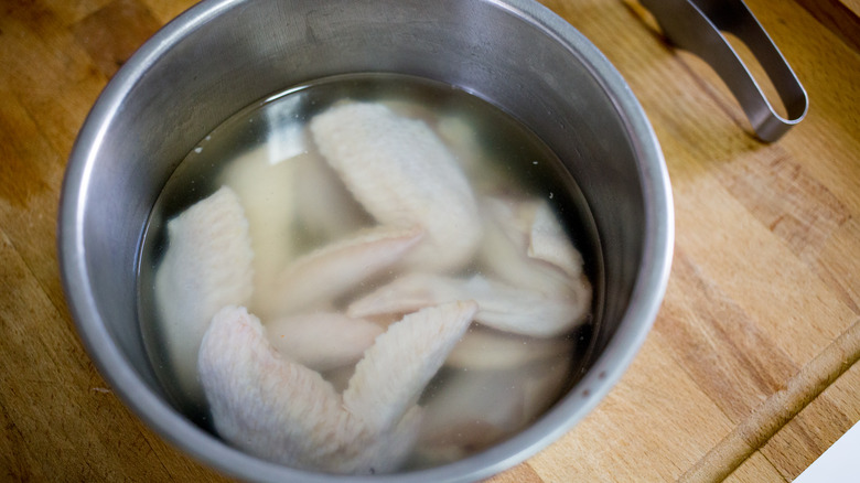
M 84 352 L 55 255 L 63 170 L 107 80 L 187 8 L 0 3 L 0 480 L 219 481 Z M 663 146 L 676 251 L 655 328 L 600 406 L 494 479 L 791 481 L 860 420 L 860 3 L 749 0 L 808 90 L 763 144 L 632 0 L 547 0 L 630 83 Z

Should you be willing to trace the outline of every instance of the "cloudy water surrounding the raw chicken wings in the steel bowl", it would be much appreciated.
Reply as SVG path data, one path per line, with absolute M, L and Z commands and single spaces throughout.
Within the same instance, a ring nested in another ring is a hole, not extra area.
M 169 331 L 160 316 L 157 273 L 170 249 L 168 222 L 223 185 L 236 187 L 250 219 L 249 236 L 259 235 L 269 243 L 275 239 L 278 245 L 275 250 L 254 245 L 255 283 L 265 282 L 265 277 L 277 278 L 293 260 L 320 247 L 378 227 L 378 208 L 368 206 L 362 195 L 354 193 L 355 189 L 348 185 L 354 180 L 347 181 L 341 171 L 332 169 L 323 154 L 327 151 L 318 146 L 320 139 L 309 129 L 315 117 L 350 104 L 383 106 L 395 118 L 409 119 L 413 122 L 410 126 L 418 126 L 418 121 L 442 142 L 475 201 L 479 217 L 474 223 L 481 227 L 476 235 L 480 240 L 465 261 L 434 268 L 436 257 L 427 253 L 439 247 L 431 246 L 423 255 L 431 261 L 395 262 L 323 300 L 303 300 L 295 307 L 262 307 L 255 297 L 241 301 L 249 312 L 260 314 L 264 325 L 282 315 L 279 311 L 292 311 L 290 315 L 299 316 L 323 310 L 345 312 L 356 300 L 413 275 L 410 271 L 471 280 L 473 286 L 477 279 L 515 289 L 540 291 L 542 285 L 553 290 L 556 278 L 538 280 L 537 288 L 528 281 L 553 271 L 557 273 L 552 277 L 562 273 L 563 278 L 565 271 L 553 267 L 553 256 L 528 251 L 533 248 L 529 237 L 534 235 L 535 213 L 539 210 L 548 210 L 551 218 L 560 222 L 565 243 L 581 254 L 582 270 L 591 280 L 590 287 L 594 287 L 593 299 L 599 301 L 601 261 L 588 206 L 560 160 L 516 119 L 463 89 L 402 75 L 346 75 L 294 87 L 237 112 L 202 139 L 165 184 L 146 230 L 138 283 L 143 340 L 166 397 L 208 430 L 217 432 L 217 421 L 212 420 L 206 398 L 190 391 L 178 376 L 183 371 L 194 371 L 178 365 L 187 365 L 196 356 L 192 354 L 178 362 L 164 340 Z M 406 143 L 400 149 L 421 148 Z M 241 174 L 241 163 L 256 168 L 251 174 Z M 407 178 L 398 184 L 406 186 L 406 192 L 419 192 L 424 180 Z M 272 200 L 268 206 L 260 202 L 268 198 Z M 273 216 L 280 216 L 277 219 L 282 223 L 272 226 Z M 495 234 L 495 242 L 487 242 L 491 234 Z M 499 244 L 508 245 L 498 249 Z M 516 267 L 523 265 L 539 268 L 520 277 Z M 486 289 L 485 285 L 481 287 Z M 252 290 L 260 291 L 259 287 Z M 530 334 L 528 329 L 512 333 L 493 324 L 472 322 L 448 362 L 420 394 L 417 404 L 423 408 L 423 422 L 404 468 L 442 464 L 479 452 L 520 431 L 550 408 L 576 383 L 588 358 L 595 332 L 591 311 L 598 303 L 592 302 L 590 292 L 585 303 L 584 316 L 550 335 Z M 529 309 L 540 313 L 540 307 Z M 365 319 L 384 331 L 400 315 L 393 310 Z M 191 346 L 196 347 L 194 343 Z M 340 367 L 325 366 L 320 372 L 336 390 L 343 390 L 354 365 L 353 361 Z

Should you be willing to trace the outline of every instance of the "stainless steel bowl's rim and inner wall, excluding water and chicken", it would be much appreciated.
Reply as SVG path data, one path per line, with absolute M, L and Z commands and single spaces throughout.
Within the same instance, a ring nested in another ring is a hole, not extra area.
M 389 476 L 312 474 L 225 444 L 178 412 L 137 318 L 142 230 L 180 160 L 268 94 L 335 74 L 394 72 L 460 86 L 510 112 L 563 160 L 591 208 L 603 259 L 589 368 L 518 436 L 444 466 Z M 206 0 L 117 73 L 68 161 L 58 249 L 80 339 L 119 397 L 166 440 L 247 480 L 461 482 L 509 468 L 606 395 L 648 333 L 666 287 L 673 207 L 645 114 L 606 58 L 530 0 Z

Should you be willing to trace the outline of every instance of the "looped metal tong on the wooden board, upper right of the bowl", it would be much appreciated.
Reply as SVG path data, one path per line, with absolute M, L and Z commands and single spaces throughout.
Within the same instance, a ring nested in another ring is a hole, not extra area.
M 651 10 L 669 41 L 717 71 L 762 141 L 776 141 L 806 116 L 809 106 L 806 90 L 743 0 L 639 0 L 639 3 Z M 721 32 L 734 34 L 752 51 L 776 88 L 787 119 L 774 110 Z

